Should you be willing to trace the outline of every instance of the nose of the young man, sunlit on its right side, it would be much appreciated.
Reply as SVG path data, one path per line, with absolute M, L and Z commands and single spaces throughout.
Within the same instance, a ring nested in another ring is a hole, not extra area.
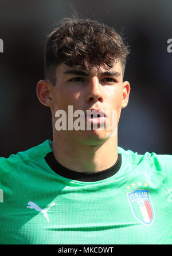
M 90 101 L 100 101 L 103 102 L 103 95 L 101 93 L 101 85 L 97 77 L 92 77 L 87 84 L 87 102 Z

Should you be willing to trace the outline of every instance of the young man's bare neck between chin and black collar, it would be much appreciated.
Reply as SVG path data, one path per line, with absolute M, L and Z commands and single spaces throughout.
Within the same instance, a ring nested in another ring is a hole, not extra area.
M 85 145 L 62 135 L 53 134 L 53 154 L 58 163 L 72 171 L 99 172 L 118 159 L 118 138 L 109 137 L 99 145 Z

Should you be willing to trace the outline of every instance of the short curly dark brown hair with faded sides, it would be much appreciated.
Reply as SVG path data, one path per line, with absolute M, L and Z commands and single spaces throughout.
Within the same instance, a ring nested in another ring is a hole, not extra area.
M 128 53 L 128 46 L 114 28 L 88 18 L 65 18 L 46 39 L 45 79 L 55 85 L 56 68 L 61 63 L 89 71 L 102 63 L 111 68 L 120 61 L 124 73 Z

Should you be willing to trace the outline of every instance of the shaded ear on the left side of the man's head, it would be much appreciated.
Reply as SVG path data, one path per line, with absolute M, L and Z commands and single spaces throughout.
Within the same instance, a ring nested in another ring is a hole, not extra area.
M 50 84 L 50 82 L 45 80 L 38 81 L 37 97 L 40 100 L 40 102 L 46 107 L 52 106 L 52 98 L 50 97 L 51 89 L 52 89 L 52 84 Z

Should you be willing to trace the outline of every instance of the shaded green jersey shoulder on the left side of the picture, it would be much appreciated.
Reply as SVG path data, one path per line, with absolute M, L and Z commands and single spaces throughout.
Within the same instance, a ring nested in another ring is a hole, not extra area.
M 22 163 L 31 160 L 37 160 L 51 152 L 50 140 L 44 141 L 42 144 L 34 146 L 28 150 L 11 154 L 8 158 L 0 157 L 0 189 L 5 182 L 7 175 L 14 171 Z

